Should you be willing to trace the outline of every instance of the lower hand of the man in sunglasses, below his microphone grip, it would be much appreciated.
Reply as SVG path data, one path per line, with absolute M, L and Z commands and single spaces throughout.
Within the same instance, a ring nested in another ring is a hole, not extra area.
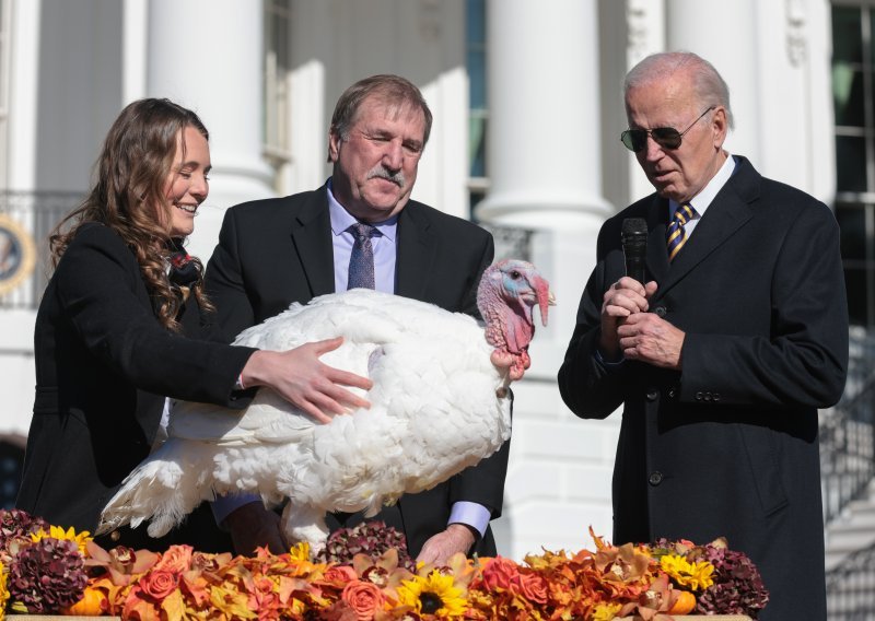
M 638 313 L 617 328 L 622 355 L 664 368 L 680 368 L 686 333 L 653 313 Z

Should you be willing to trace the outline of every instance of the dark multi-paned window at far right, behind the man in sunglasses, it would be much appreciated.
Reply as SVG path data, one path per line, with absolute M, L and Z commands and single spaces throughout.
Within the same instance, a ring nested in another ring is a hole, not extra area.
M 851 324 L 875 327 L 875 2 L 832 5 L 836 218 Z

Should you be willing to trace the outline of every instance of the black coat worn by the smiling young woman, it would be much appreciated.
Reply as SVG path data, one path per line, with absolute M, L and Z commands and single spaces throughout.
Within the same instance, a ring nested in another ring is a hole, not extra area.
M 185 333 L 199 335 L 200 319 L 197 305 L 186 304 Z M 233 407 L 234 382 L 253 351 L 165 330 L 125 242 L 106 226 L 84 225 L 36 317 L 36 398 L 16 505 L 93 532 L 121 480 L 149 454 L 164 396 Z M 140 527 L 120 531 L 117 542 L 230 551 L 205 508 L 189 517 L 190 530 L 154 540 Z

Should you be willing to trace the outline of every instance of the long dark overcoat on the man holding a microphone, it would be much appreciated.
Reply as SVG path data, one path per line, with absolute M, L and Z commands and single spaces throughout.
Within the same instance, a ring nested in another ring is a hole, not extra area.
M 630 216 L 648 221 L 650 310 L 686 332 L 681 372 L 594 358 Z M 761 619 L 825 619 L 817 409 L 839 399 L 848 365 L 836 220 L 742 157 L 670 266 L 666 220 L 653 195 L 605 223 L 559 372 L 579 417 L 623 406 L 615 542 L 726 536 L 771 591 Z

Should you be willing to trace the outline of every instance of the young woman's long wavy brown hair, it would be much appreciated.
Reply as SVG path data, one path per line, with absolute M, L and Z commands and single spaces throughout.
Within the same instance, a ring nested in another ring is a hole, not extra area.
M 100 222 L 127 243 L 140 263 L 143 281 L 153 300 L 159 321 L 179 330 L 176 315 L 182 293 L 167 278 L 171 254 L 183 239 L 171 238 L 170 204 L 165 197 L 167 179 L 174 174 L 177 142 L 183 130 L 192 127 L 209 140 L 198 116 L 170 99 L 147 98 L 121 110 L 95 163 L 96 181 L 82 203 L 68 214 L 49 235 L 52 267 L 86 222 Z M 203 308 L 212 309 L 203 293 L 203 266 L 197 258 L 199 278 L 191 293 Z

